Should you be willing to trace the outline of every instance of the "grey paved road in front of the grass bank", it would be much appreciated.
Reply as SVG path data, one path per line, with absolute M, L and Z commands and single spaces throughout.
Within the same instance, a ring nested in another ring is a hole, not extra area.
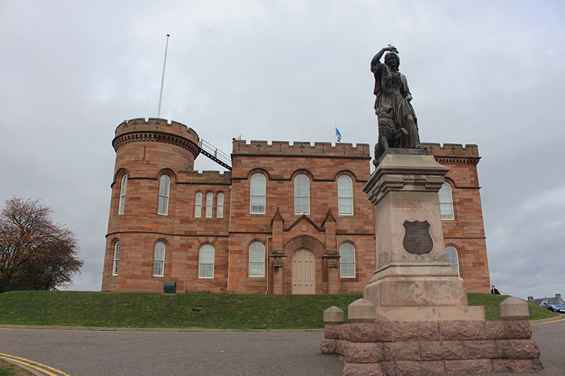
M 565 375 L 565 320 L 533 325 L 545 370 Z M 81 332 L 0 329 L 0 353 L 90 375 L 341 375 L 322 333 Z M 533 374 L 496 374 L 525 376 Z

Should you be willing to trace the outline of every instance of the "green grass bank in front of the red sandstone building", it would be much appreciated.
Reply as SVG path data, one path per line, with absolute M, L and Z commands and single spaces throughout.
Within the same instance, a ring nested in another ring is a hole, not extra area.
M 109 293 L 11 291 L 0 294 L 0 325 L 70 327 L 316 329 L 323 311 L 362 298 L 347 295 L 248 295 L 215 293 Z M 487 320 L 501 320 L 507 296 L 469 293 L 469 305 L 484 305 Z M 555 317 L 530 304 L 530 320 Z M 1 374 L 0 374 L 1 375 Z

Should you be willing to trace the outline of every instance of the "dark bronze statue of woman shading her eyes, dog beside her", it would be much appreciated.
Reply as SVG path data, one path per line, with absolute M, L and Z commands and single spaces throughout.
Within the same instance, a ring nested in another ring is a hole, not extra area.
M 381 63 L 385 51 L 388 54 L 384 56 L 384 63 Z M 374 164 L 389 147 L 425 149 L 420 145 L 408 81 L 398 71 L 398 66 L 398 50 L 391 44 L 381 49 L 371 61 L 371 72 L 375 75 L 375 114 L 379 121 L 379 142 L 375 145 Z

